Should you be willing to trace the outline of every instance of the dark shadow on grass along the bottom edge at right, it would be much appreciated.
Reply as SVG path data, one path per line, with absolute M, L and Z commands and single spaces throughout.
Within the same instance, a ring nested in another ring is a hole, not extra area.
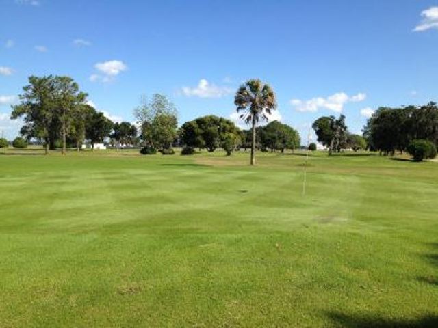
M 414 319 L 388 319 L 378 316 L 354 316 L 340 312 L 329 312 L 327 314 L 331 320 L 341 327 L 348 328 L 432 328 L 438 327 L 438 316 L 428 314 Z

